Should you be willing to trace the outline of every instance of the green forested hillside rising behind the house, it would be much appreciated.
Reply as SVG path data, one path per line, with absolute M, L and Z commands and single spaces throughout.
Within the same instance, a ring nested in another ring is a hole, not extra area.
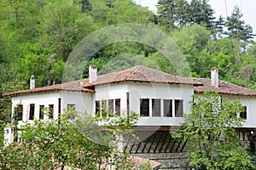
M 218 66 L 220 79 L 256 89 L 256 45 L 253 29 L 239 8 L 214 18 L 207 0 L 160 0 L 157 14 L 132 0 L 0 0 L 0 120 L 9 122 L 10 101 L 4 93 L 61 83 L 73 48 L 104 26 L 137 23 L 166 32 L 187 57 L 194 77 L 210 77 Z M 174 73 L 163 54 L 140 42 L 113 43 L 98 51 L 89 64 L 102 65 L 122 54 L 143 56 Z M 136 57 L 134 58 L 135 60 Z M 139 62 L 137 62 L 139 63 Z M 125 66 L 125 60 L 119 62 Z M 84 65 L 84 77 L 87 77 Z

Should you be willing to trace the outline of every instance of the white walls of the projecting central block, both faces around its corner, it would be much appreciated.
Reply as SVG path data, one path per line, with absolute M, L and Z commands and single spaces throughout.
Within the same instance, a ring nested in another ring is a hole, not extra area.
M 191 85 L 162 84 L 148 82 L 121 82 L 96 86 L 94 95 L 94 108 L 96 100 L 121 99 L 121 112 L 126 115 L 126 93 L 129 93 L 130 111 L 140 114 L 140 99 L 183 99 L 183 111 L 189 114 L 189 101 L 194 93 Z M 149 104 L 150 107 L 150 104 Z M 161 110 L 163 108 L 161 107 Z M 174 111 L 174 110 L 173 110 Z M 174 113 L 174 112 L 173 112 Z M 172 114 L 173 116 L 175 114 Z M 183 117 L 153 117 L 149 110 L 149 116 L 139 118 L 137 125 L 141 126 L 176 126 L 183 122 Z

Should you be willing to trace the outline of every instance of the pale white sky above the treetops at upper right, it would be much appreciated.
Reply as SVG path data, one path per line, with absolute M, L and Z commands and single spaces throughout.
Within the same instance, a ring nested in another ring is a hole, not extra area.
M 138 4 L 144 7 L 148 7 L 149 10 L 156 11 L 158 0 L 135 0 Z M 225 5 L 225 2 L 227 5 Z M 211 7 L 215 11 L 215 17 L 218 18 L 222 15 L 224 18 L 227 14 L 230 15 L 234 9 L 234 6 L 238 6 L 243 14 L 242 20 L 245 20 L 246 24 L 253 26 L 253 32 L 256 34 L 256 1 L 255 0 L 209 0 Z M 227 8 L 227 11 L 226 11 Z

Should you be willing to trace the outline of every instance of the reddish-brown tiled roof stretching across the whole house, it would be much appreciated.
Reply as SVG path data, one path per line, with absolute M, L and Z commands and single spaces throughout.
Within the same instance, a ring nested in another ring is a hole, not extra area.
M 86 78 L 84 80 L 66 82 L 44 88 L 28 89 L 4 95 L 11 96 L 19 94 L 32 94 L 56 90 L 95 93 L 95 90 L 93 90 L 95 86 L 117 82 L 157 82 L 170 84 L 191 84 L 194 85 L 195 93 L 202 93 L 208 89 L 213 89 L 213 91 L 218 92 L 219 94 L 256 96 L 256 91 L 248 88 L 242 88 L 230 82 L 219 81 L 219 88 L 215 88 L 214 86 L 212 86 L 211 80 L 208 78 L 176 77 L 162 71 L 156 71 L 154 69 L 144 67 L 142 65 L 137 65 L 129 69 L 125 69 L 124 71 L 117 71 L 98 76 L 97 81 L 93 83 L 89 83 L 89 79 Z

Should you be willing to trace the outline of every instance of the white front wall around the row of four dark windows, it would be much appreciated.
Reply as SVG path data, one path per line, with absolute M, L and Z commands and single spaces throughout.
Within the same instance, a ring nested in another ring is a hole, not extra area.
M 130 110 L 137 113 L 140 112 L 140 99 L 183 99 L 183 111 L 189 114 L 189 101 L 194 93 L 191 85 L 145 82 L 130 82 L 128 91 L 130 92 Z M 140 117 L 137 125 L 177 126 L 184 120 L 183 117 L 164 117 L 163 105 L 161 105 L 161 117 L 153 117 L 150 108 L 149 102 L 149 116 Z M 174 115 L 174 110 L 172 110 L 172 116 Z

